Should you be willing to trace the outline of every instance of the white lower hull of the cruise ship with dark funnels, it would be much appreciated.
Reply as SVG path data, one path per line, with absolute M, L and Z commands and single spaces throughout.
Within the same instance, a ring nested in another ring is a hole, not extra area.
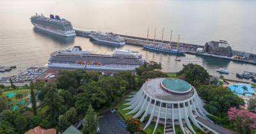
M 38 29 L 42 29 L 44 31 L 48 31 L 50 33 L 54 33 L 54 34 L 58 34 L 61 36 L 76 36 L 76 31 L 72 30 L 72 31 L 60 31 L 60 30 L 55 30 L 55 29 L 51 29 L 51 27 L 46 27 L 46 26 L 40 26 L 38 24 L 32 23 L 36 28 Z

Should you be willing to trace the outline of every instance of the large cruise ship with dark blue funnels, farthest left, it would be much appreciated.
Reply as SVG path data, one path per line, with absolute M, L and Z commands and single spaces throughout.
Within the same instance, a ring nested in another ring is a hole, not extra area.
M 50 33 L 59 34 L 61 36 L 75 36 L 76 31 L 74 31 L 70 21 L 65 19 L 60 19 L 58 15 L 50 15 L 50 18 L 44 17 L 43 14 L 33 15 L 31 18 L 31 23 L 38 29 L 48 31 Z

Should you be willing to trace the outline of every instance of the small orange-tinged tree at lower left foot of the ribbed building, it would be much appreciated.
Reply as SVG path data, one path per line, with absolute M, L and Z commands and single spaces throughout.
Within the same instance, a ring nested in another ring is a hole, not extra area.
M 140 131 L 140 120 L 138 118 L 131 118 L 126 121 L 127 130 L 130 133 L 136 133 Z

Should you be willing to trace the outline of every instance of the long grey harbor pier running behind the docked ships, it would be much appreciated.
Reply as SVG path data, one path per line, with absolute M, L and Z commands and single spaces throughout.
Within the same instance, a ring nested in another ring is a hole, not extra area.
M 75 28 L 74 30 L 76 31 L 77 36 L 88 37 L 89 34 L 95 33 L 95 31 L 88 31 L 88 30 L 83 30 L 83 29 Z M 129 36 L 129 35 L 124 35 L 124 34 L 117 34 L 117 35 L 122 36 L 125 40 L 125 43 L 131 44 L 131 45 L 137 45 L 137 46 L 141 46 L 141 47 L 143 47 L 144 45 L 147 45 L 148 43 L 154 43 L 156 45 L 157 44 L 172 45 L 175 47 L 177 47 L 177 44 L 178 44 L 178 42 L 175 42 L 175 41 L 172 41 L 172 43 L 170 43 L 170 41 L 166 41 L 166 40 L 156 40 L 156 39 L 151 39 L 151 38 Z M 224 45 L 225 45 L 225 43 L 227 43 L 227 41 L 223 42 L 223 40 L 211 41 L 211 42 L 221 43 Z M 179 48 L 186 50 L 186 54 L 215 57 L 215 58 L 220 58 L 220 59 L 228 59 L 230 61 L 238 61 L 238 62 L 242 62 L 242 63 L 256 64 L 256 54 L 252 54 L 250 52 L 242 52 L 242 51 L 230 49 L 230 54 L 232 54 L 232 56 L 225 56 L 225 54 L 224 55 L 211 54 L 209 52 L 198 52 L 198 48 L 205 51 L 205 49 L 207 49 L 207 48 L 205 48 L 207 46 L 206 44 L 207 43 L 205 43 L 205 45 L 196 45 L 196 44 L 192 44 L 192 43 L 179 42 Z M 221 48 L 218 51 L 221 52 Z M 218 52 L 216 52 L 216 53 L 218 53 Z

